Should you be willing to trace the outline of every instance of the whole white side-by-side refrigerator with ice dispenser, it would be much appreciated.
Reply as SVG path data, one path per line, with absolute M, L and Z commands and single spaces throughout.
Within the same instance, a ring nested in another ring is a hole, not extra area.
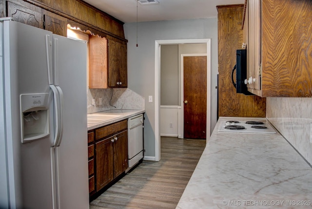
M 0 209 L 88 209 L 87 46 L 0 19 Z

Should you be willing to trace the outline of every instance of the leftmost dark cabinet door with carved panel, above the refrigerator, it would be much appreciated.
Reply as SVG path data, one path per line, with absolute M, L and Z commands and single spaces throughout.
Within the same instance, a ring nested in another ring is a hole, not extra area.
M 40 12 L 6 1 L 6 16 L 14 21 L 43 29 L 43 18 Z

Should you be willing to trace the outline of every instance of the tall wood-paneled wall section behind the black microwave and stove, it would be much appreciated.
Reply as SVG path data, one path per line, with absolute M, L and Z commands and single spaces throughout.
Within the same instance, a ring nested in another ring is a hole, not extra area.
M 217 6 L 218 10 L 218 112 L 219 117 L 265 117 L 266 99 L 237 94 L 231 74 L 236 50 L 242 48 L 244 5 Z

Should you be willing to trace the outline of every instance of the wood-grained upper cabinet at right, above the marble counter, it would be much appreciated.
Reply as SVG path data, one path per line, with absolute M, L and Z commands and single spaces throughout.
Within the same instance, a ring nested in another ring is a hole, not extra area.
M 261 97 L 312 97 L 312 1 L 248 4 L 249 68 L 254 62 L 257 72 L 249 91 Z

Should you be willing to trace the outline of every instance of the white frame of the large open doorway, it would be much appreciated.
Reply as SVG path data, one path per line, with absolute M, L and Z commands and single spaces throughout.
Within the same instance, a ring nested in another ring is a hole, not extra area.
M 211 39 L 155 40 L 155 161 L 160 160 L 160 45 L 195 44 L 207 45 L 207 128 L 206 142 L 210 139 L 211 123 Z M 182 98 L 182 97 L 181 97 Z M 182 105 L 182 104 L 181 104 Z

